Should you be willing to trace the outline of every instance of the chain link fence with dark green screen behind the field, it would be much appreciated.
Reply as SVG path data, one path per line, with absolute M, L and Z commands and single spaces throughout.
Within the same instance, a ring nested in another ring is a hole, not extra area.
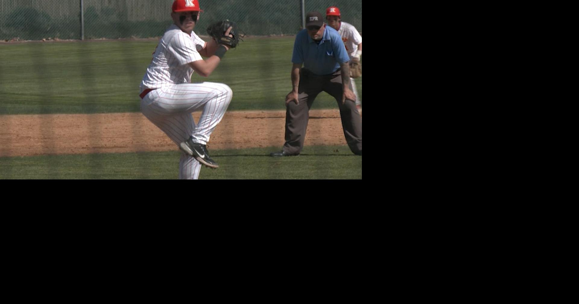
M 303 2 L 306 13 L 317 10 L 325 15 L 328 6 L 338 6 L 342 20 L 362 32 L 361 0 Z M 157 37 L 173 23 L 172 3 L 173 0 L 0 0 L 0 37 L 6 41 Z M 199 35 L 206 35 L 207 25 L 221 19 L 236 21 L 248 35 L 293 35 L 302 28 L 302 0 L 200 0 L 199 4 L 204 10 L 195 28 Z

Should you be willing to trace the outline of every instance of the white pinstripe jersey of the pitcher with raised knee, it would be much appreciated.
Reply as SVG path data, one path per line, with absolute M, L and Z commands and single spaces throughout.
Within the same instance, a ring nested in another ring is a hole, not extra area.
M 168 85 L 189 83 L 193 69 L 188 63 L 203 60 L 199 50 L 203 49 L 205 43 L 195 32 L 191 32 L 189 36 L 177 25 L 171 25 L 153 53 L 153 60 L 141 82 L 141 91 L 147 87 L 158 89 Z

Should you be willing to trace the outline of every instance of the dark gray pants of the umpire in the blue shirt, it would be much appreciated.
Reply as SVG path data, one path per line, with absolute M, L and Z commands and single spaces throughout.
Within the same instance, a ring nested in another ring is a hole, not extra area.
M 350 89 L 352 85 L 350 83 Z M 285 144 L 283 151 L 292 155 L 298 155 L 303 149 L 303 141 L 306 137 L 309 110 L 314 99 L 321 91 L 325 91 L 336 98 L 342 118 L 344 136 L 350 150 L 354 154 L 362 154 L 362 118 L 356 104 L 346 99 L 342 105 L 342 75 L 340 69 L 329 75 L 314 75 L 305 68 L 299 75 L 299 104 L 291 101 L 285 111 Z

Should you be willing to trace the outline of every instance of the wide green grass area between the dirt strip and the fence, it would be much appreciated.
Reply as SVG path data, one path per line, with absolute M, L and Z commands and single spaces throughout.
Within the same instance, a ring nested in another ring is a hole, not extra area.
M 208 78 L 233 90 L 228 111 L 284 109 L 295 36 L 246 38 Z M 0 44 L 1 114 L 138 112 L 139 84 L 157 41 Z M 362 78 L 356 79 L 360 97 Z M 338 108 L 321 93 L 314 109 Z

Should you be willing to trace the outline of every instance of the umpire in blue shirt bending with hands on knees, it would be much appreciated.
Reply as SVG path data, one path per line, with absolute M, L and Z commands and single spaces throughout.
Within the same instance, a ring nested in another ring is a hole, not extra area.
M 354 103 L 349 60 L 338 32 L 324 24 L 320 13 L 307 13 L 306 28 L 295 37 L 291 59 L 294 65 L 292 91 L 285 97 L 285 144 L 271 156 L 299 155 L 306 137 L 309 109 L 321 91 L 336 98 L 346 142 L 354 154 L 362 155 L 362 119 Z

